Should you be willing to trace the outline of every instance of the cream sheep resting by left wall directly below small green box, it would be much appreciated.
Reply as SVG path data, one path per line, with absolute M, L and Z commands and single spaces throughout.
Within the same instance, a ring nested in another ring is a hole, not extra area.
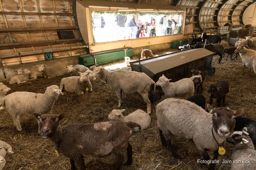
M 37 67 L 38 71 L 42 71 L 48 79 L 62 76 L 68 73 L 67 69 L 58 65 L 55 65 L 54 67 L 48 67 L 45 64 L 40 64 L 37 65 Z

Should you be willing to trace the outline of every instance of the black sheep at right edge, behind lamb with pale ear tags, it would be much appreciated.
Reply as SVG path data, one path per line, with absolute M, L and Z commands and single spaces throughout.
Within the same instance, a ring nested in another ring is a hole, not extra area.
M 252 139 L 256 150 L 256 121 L 245 117 L 236 117 L 236 125 L 234 131 L 241 131 L 244 127 L 247 128 L 248 136 Z

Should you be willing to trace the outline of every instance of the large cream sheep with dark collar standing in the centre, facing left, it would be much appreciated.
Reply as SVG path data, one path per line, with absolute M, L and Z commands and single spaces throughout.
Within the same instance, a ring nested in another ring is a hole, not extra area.
M 156 89 L 156 83 L 145 73 L 124 70 L 108 71 L 104 68 L 97 67 L 90 75 L 106 82 L 115 90 L 118 97 L 118 107 L 122 105 L 123 92 L 126 94 L 139 93 L 147 104 L 147 113 L 151 114 L 151 103 L 148 96 Z

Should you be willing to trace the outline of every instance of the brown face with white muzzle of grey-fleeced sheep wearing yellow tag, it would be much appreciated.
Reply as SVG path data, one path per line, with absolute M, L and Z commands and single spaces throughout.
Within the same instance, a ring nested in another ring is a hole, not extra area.
M 232 111 L 229 108 L 219 107 L 213 108 L 207 104 L 207 108 L 212 113 L 212 127 L 221 138 L 227 138 L 231 131 L 233 131 L 236 116 L 240 116 L 244 111 Z

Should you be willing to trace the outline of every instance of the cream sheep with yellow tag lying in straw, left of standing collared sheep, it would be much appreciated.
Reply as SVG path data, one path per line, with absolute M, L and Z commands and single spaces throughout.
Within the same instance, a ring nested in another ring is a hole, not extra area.
M 61 79 L 59 89 L 61 91 L 66 90 L 82 95 L 86 91 L 93 91 L 93 89 L 91 88 L 91 82 L 89 80 L 88 73 L 79 72 L 79 74 L 80 76 L 72 76 Z

